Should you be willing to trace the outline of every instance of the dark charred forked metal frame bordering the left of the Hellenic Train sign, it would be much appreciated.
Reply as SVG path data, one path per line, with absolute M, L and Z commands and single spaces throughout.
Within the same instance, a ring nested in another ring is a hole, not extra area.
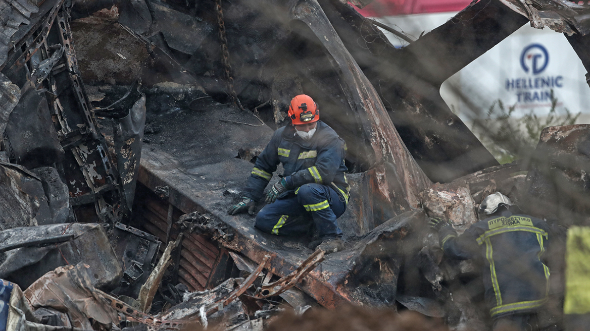
M 320 4 L 378 91 L 409 152 L 432 181 L 448 182 L 497 161 L 440 96 L 440 85 L 526 23 L 499 1 L 480 1 L 405 48 L 337 0 Z

